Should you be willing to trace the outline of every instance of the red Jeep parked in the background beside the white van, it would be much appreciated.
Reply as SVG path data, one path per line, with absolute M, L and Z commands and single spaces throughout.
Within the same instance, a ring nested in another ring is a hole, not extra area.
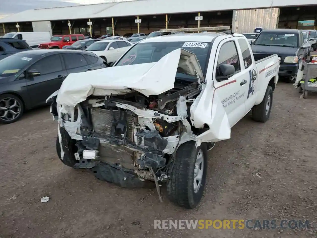
M 78 40 L 83 40 L 85 36 L 83 34 L 64 35 L 64 36 L 52 36 L 51 42 L 41 43 L 38 48 L 40 49 L 61 49 L 65 45 L 72 45 Z

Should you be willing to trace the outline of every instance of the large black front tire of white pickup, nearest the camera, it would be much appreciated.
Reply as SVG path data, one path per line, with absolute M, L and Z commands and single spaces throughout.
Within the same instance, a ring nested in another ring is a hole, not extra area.
M 194 190 L 194 173 L 197 156 L 203 156 L 199 167 L 202 172 L 200 185 L 195 181 L 197 190 Z M 207 146 L 202 143 L 198 148 L 194 141 L 185 142 L 176 151 L 176 156 L 168 169 L 167 196 L 171 202 L 184 208 L 195 208 L 200 202 L 206 182 L 207 174 Z

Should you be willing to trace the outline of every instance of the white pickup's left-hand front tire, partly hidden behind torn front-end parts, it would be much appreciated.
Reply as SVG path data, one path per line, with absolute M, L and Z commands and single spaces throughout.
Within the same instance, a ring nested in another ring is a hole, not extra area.
M 76 141 L 73 140 L 67 133 L 67 131 L 64 128 L 61 128 L 61 143 L 64 151 L 63 159 L 61 159 L 61 146 L 58 139 L 58 136 L 56 138 L 56 152 L 64 164 L 66 164 L 69 167 L 74 167 L 74 165 L 77 163 L 75 159 L 74 153 L 77 151 L 76 147 Z M 76 151 L 75 151 L 76 150 Z

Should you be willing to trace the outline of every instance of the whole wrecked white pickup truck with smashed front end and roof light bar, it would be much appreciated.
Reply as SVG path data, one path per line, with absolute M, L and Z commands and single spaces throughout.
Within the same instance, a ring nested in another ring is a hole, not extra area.
M 194 30 L 222 29 L 229 28 Z M 194 208 L 205 188 L 207 150 L 230 139 L 250 110 L 255 121 L 268 120 L 278 71 L 278 56 L 253 55 L 241 34 L 146 38 L 113 67 L 70 74 L 48 99 L 58 155 L 123 187 L 153 181 L 160 199 L 167 183 L 172 202 Z

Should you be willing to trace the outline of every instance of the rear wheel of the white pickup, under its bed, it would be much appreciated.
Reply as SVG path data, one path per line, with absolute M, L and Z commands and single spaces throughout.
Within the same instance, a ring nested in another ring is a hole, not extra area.
M 270 102 L 268 102 L 268 100 Z M 266 122 L 271 114 L 272 102 L 273 90 L 271 86 L 268 86 L 262 102 L 252 108 L 252 119 L 256 122 Z

